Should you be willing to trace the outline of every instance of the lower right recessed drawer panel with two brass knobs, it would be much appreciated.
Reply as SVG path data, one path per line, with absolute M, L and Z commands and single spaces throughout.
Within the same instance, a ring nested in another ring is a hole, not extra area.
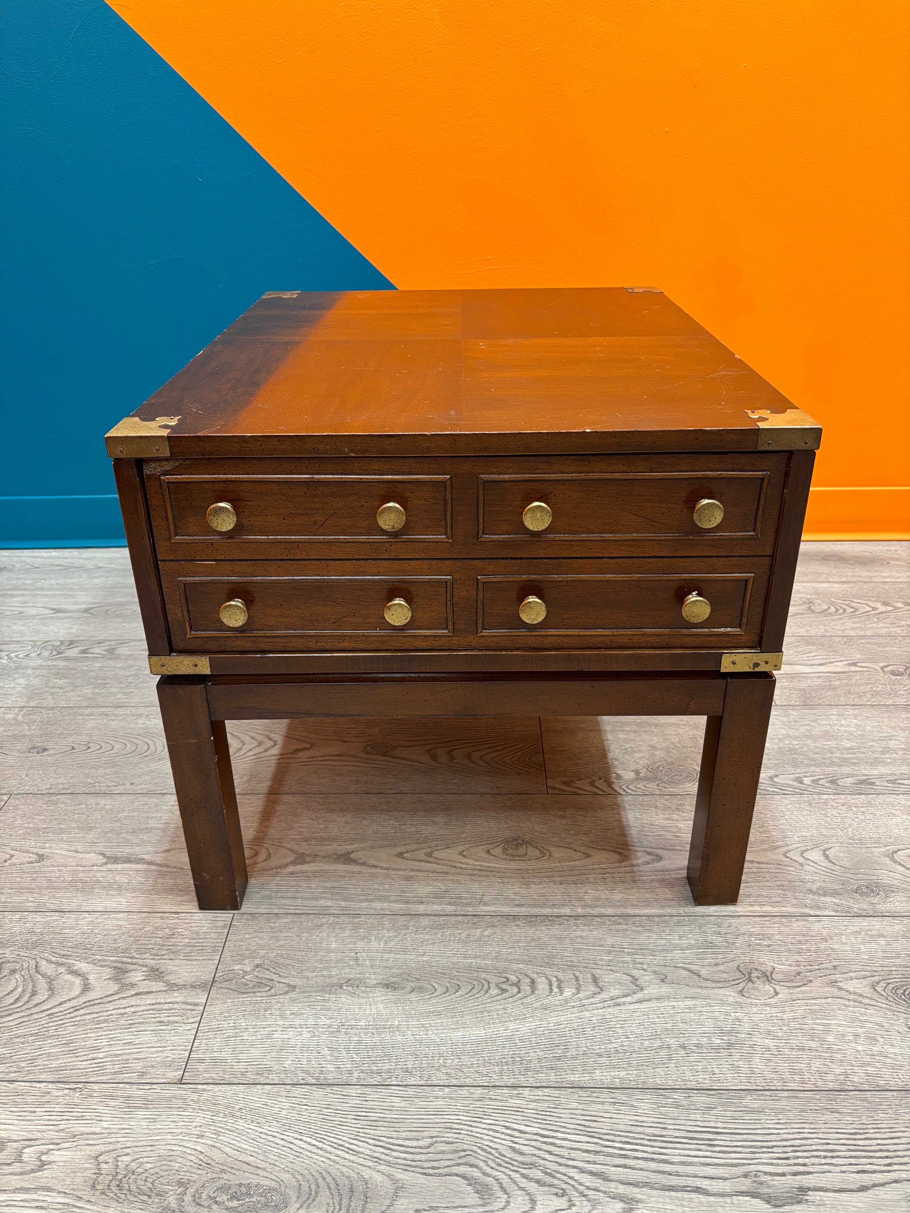
M 693 570 L 478 577 L 478 631 L 679 638 L 746 631 L 755 576 Z

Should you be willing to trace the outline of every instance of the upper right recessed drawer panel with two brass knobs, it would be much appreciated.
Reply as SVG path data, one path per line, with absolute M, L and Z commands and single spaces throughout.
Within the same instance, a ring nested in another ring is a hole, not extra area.
M 482 475 L 480 539 L 758 539 L 770 473 Z

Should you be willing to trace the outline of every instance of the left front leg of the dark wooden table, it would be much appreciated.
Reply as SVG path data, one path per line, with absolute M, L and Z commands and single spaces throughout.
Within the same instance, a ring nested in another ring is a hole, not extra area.
M 200 910 L 238 910 L 246 888 L 231 751 L 204 678 L 160 678 L 158 700 Z

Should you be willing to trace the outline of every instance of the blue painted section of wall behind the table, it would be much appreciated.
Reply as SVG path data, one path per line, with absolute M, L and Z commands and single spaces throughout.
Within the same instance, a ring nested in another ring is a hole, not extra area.
M 7 0 L 0 546 L 123 542 L 103 434 L 267 290 L 391 283 L 101 0 Z

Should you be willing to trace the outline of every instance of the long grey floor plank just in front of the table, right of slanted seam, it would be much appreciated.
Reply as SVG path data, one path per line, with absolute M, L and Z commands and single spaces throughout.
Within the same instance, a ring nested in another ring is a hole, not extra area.
M 906 1086 L 903 918 L 240 915 L 186 1081 Z

